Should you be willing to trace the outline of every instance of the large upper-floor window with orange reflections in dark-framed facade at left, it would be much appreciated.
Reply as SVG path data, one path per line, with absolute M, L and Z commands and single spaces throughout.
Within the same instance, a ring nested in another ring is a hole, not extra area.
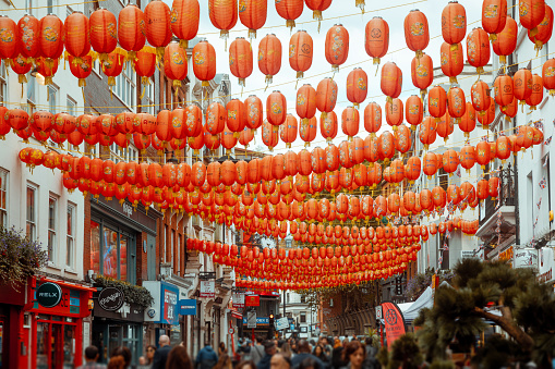
M 134 283 L 133 274 L 128 273 L 128 246 L 132 246 L 129 235 L 91 221 L 91 269 L 95 273 Z

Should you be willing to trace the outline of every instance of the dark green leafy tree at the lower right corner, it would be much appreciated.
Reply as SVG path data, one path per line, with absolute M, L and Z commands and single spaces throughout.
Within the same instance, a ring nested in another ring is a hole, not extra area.
M 488 320 L 507 332 L 524 356 L 533 355 L 540 367 L 547 367 L 555 354 L 555 295 L 531 270 L 466 259 L 455 267 L 453 285 L 438 287 L 434 307 L 423 309 L 414 321 L 422 325 L 418 337 L 429 358 L 446 358 L 454 343 L 468 352 Z

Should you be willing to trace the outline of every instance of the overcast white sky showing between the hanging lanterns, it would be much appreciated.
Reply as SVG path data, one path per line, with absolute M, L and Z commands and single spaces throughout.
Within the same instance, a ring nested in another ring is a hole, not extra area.
M 164 0 L 171 7 L 171 0 Z M 264 104 L 266 103 L 266 97 L 274 90 L 280 90 L 288 100 L 288 111 L 294 114 L 294 100 L 297 96 L 295 89 L 295 72 L 289 66 L 288 60 L 288 48 L 289 48 L 289 39 L 291 37 L 291 33 L 289 28 L 287 28 L 286 21 L 281 19 L 276 11 L 275 1 L 268 0 L 268 15 L 266 20 L 266 24 L 264 28 L 258 29 L 257 37 L 253 41 L 253 56 L 254 56 L 254 69 L 252 75 L 246 79 L 246 87 L 244 88 L 243 95 L 241 96 L 241 87 L 237 83 L 237 78 L 231 75 L 229 72 L 229 60 L 228 53 L 224 50 L 224 40 L 219 38 L 219 30 L 214 27 L 210 23 L 208 16 L 208 0 L 200 0 L 201 3 L 201 24 L 198 29 L 198 36 L 207 38 L 208 41 L 214 45 L 216 49 L 216 60 L 217 60 L 217 72 L 218 73 L 228 73 L 230 75 L 230 79 L 232 82 L 232 93 L 234 98 L 240 98 L 244 100 L 249 95 L 254 94 L 258 96 Z M 467 11 L 467 34 L 474 27 L 481 26 L 480 17 L 482 12 L 482 1 L 480 0 L 460 0 L 462 5 L 464 5 Z M 382 90 L 379 88 L 379 73 L 376 73 L 376 66 L 372 64 L 372 59 L 366 54 L 364 50 L 364 27 L 366 23 L 374 16 L 382 16 L 389 24 L 390 32 L 390 40 L 389 40 L 389 51 L 388 54 L 382 59 L 383 65 L 387 61 L 393 61 L 397 63 L 402 70 L 403 74 L 403 93 L 401 98 L 403 100 L 413 94 L 418 94 L 418 90 L 414 89 L 412 85 L 412 81 L 410 77 L 410 62 L 414 57 L 414 53 L 407 48 L 407 44 L 405 41 L 405 30 L 403 30 L 403 20 L 405 16 L 412 9 L 420 9 L 423 11 L 430 24 L 430 36 L 431 41 L 427 48 L 424 50 L 427 54 L 430 54 L 434 61 L 434 66 L 439 66 L 439 47 L 443 42 L 442 38 L 442 10 L 448 3 L 448 0 L 427 0 L 427 1 L 413 1 L 408 2 L 406 0 L 389 0 L 389 1 L 376 1 L 376 0 L 366 0 L 365 13 L 362 14 L 361 11 L 354 7 L 354 0 L 334 0 L 329 9 L 324 11 L 324 21 L 322 21 L 321 32 L 318 34 L 317 22 L 313 22 L 312 11 L 304 7 L 304 11 L 302 15 L 297 20 L 297 28 L 293 28 L 293 33 L 297 29 L 305 29 L 313 38 L 314 41 L 314 59 L 311 69 L 304 74 L 305 78 L 299 81 L 298 87 L 302 86 L 302 84 L 311 84 L 314 88 L 316 88 L 318 82 L 326 77 L 331 76 L 331 66 L 325 59 L 324 54 L 324 44 L 326 38 L 327 30 L 334 24 L 342 24 L 347 30 L 349 32 L 350 45 L 349 45 L 349 57 L 346 63 L 342 65 L 343 67 L 339 73 L 336 73 L 334 79 L 337 82 L 339 87 L 338 95 L 338 103 L 336 106 L 335 112 L 340 120 L 341 111 L 345 107 L 348 107 L 350 103 L 347 100 L 346 96 L 346 78 L 350 71 L 352 71 L 355 66 L 362 67 L 366 74 L 369 75 L 369 99 L 361 104 L 361 124 L 359 128 L 359 136 L 364 138 L 366 137 L 366 133 L 364 131 L 363 125 L 363 114 L 362 110 L 365 104 L 370 101 L 378 102 L 382 108 L 385 104 L 385 97 L 382 95 Z M 281 61 L 281 70 L 279 73 L 274 76 L 274 83 L 268 87 L 266 91 L 264 75 L 258 70 L 257 64 L 257 52 L 258 52 L 258 42 L 266 34 L 276 34 L 276 36 L 280 39 L 282 46 L 282 61 Z M 236 37 L 248 37 L 246 27 L 244 27 L 240 20 L 238 20 L 236 27 L 230 33 L 230 38 L 228 40 L 228 45 L 236 39 Z M 463 47 L 466 48 L 466 42 L 463 41 Z M 402 49 L 398 52 L 391 52 L 395 50 Z M 466 56 L 466 51 L 464 51 Z M 492 56 L 494 53 L 492 52 Z M 319 75 L 322 73 L 326 73 L 325 75 Z M 279 85 L 279 86 L 277 86 Z M 316 112 L 316 116 L 319 118 L 319 112 Z M 383 125 L 385 125 L 385 119 L 383 121 Z M 339 130 L 338 135 L 334 143 L 338 145 L 342 137 L 346 137 L 341 133 L 340 121 L 338 122 Z M 262 144 L 261 139 L 261 130 L 258 130 L 256 139 L 256 146 Z M 297 142 L 293 143 L 293 150 L 299 151 L 302 149 L 303 142 L 298 137 Z M 319 134 L 319 125 L 318 125 L 318 134 L 314 144 L 311 145 L 311 149 L 315 146 L 325 147 L 325 140 L 322 138 Z M 250 148 L 254 146 L 251 145 Z M 277 147 L 277 152 L 285 153 L 285 144 L 280 143 Z

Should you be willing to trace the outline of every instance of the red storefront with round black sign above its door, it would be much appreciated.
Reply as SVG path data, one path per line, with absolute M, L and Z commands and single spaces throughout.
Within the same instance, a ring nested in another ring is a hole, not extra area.
M 27 296 L 32 298 L 25 305 L 29 317 L 23 322 L 24 336 L 31 337 L 29 368 L 62 369 L 83 364 L 83 318 L 91 313 L 94 291 L 43 276 L 31 281 Z

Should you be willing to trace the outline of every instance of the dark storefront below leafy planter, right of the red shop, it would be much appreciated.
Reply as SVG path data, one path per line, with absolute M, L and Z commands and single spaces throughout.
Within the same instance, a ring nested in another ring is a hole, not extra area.
M 100 352 L 99 362 L 107 364 L 110 354 L 120 346 L 131 349 L 132 365 L 138 364 L 143 353 L 144 309 L 135 304 L 124 304 L 117 311 L 105 310 L 95 300 L 93 310 L 92 344 Z

